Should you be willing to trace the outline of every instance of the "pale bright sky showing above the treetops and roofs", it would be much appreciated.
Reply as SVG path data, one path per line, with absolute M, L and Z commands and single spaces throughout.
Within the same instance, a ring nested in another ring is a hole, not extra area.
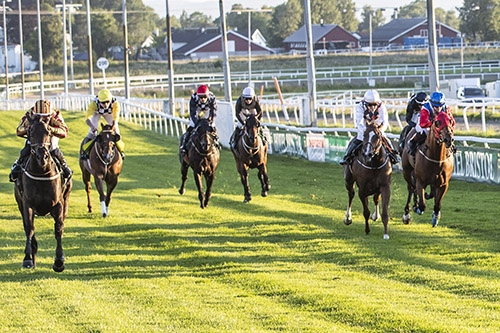
M 166 1 L 165 0 L 142 0 L 143 3 L 149 7 L 152 7 L 160 17 L 165 17 L 166 12 Z M 168 0 L 169 10 L 171 15 L 179 17 L 183 10 L 188 13 L 195 11 L 203 12 L 207 15 L 216 18 L 219 16 L 219 0 Z M 286 0 L 224 0 L 224 9 L 228 12 L 233 4 L 241 4 L 246 8 L 260 9 L 263 5 L 268 5 L 275 7 L 279 4 L 284 3 Z M 370 5 L 373 8 L 377 7 L 395 7 L 404 6 L 412 2 L 412 0 L 354 0 L 356 6 L 360 9 L 365 5 Z M 444 10 L 455 9 L 457 6 L 462 6 L 462 0 L 434 0 L 434 7 L 441 7 Z M 361 10 L 359 11 L 361 12 Z M 391 11 L 388 15 L 392 14 Z M 358 17 L 360 15 L 358 14 Z

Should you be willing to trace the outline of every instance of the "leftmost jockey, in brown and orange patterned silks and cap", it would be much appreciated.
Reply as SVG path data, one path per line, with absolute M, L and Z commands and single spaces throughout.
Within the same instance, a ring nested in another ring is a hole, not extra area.
M 17 126 L 17 136 L 27 137 L 29 120 L 33 119 L 35 116 L 41 116 L 45 119 L 49 119 L 48 124 L 50 126 L 51 137 L 50 137 L 50 154 L 55 157 L 62 167 L 64 178 L 69 178 L 73 174 L 73 171 L 68 166 L 64 155 L 59 149 L 59 139 L 64 139 L 68 135 L 68 126 L 64 122 L 61 112 L 55 110 L 49 101 L 39 100 L 36 101 L 35 105 L 29 109 L 21 119 L 21 122 Z M 26 139 L 24 148 L 21 150 L 19 158 L 14 162 L 12 166 L 9 180 L 14 182 L 19 178 L 21 174 L 21 166 L 30 155 L 30 142 Z

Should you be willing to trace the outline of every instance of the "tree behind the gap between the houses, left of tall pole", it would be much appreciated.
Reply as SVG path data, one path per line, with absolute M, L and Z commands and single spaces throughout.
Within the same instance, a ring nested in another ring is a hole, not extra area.
M 269 44 L 280 47 L 283 40 L 303 25 L 304 11 L 299 0 L 288 0 L 274 8 Z

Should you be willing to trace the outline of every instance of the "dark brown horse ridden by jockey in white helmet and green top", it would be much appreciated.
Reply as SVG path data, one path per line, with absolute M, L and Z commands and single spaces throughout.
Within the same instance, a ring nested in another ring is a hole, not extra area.
M 267 197 L 267 192 L 271 188 L 269 178 L 267 177 L 267 143 L 262 142 L 259 135 L 260 122 L 254 116 L 250 115 L 245 121 L 244 133 L 238 139 L 236 149 L 231 147 L 234 159 L 236 160 L 236 168 L 240 173 L 241 183 L 245 191 L 245 199 L 243 202 L 252 200 L 250 186 L 248 185 L 248 169 L 259 169 L 259 180 L 262 187 L 260 193 L 263 197 Z

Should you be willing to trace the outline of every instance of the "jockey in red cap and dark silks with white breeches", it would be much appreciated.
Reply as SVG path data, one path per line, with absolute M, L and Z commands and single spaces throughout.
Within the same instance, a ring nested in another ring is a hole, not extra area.
M 183 153 L 187 151 L 187 143 L 200 117 L 207 118 L 210 125 L 213 127 L 216 113 L 217 102 L 214 94 L 212 94 L 206 85 L 203 84 L 199 86 L 196 92 L 191 95 L 191 100 L 189 102 L 189 127 L 186 130 L 186 135 L 184 135 L 184 140 L 182 140 L 180 146 Z

